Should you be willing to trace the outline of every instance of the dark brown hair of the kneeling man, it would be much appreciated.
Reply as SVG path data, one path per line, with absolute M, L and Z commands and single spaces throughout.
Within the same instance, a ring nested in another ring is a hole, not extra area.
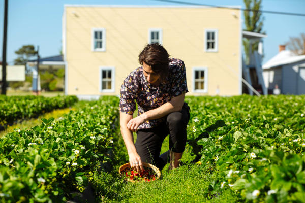
M 169 54 L 161 44 L 147 44 L 139 54 L 139 63 L 143 61 L 165 81 L 168 74 Z

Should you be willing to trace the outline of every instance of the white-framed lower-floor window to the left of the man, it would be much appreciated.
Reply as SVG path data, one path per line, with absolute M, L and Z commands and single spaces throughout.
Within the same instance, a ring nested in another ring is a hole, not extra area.
M 114 92 L 114 67 L 100 67 L 100 92 Z

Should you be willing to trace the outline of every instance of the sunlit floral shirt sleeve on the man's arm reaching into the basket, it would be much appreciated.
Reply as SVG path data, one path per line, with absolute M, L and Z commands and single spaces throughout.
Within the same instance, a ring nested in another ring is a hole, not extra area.
M 133 115 L 133 112 L 136 110 L 135 96 L 133 93 L 134 85 L 131 81 L 130 76 L 124 80 L 119 99 L 119 111 L 129 115 Z

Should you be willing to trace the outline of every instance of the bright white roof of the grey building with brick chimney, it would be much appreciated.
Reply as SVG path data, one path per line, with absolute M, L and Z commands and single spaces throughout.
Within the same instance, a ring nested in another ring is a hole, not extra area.
M 283 50 L 263 64 L 263 69 L 270 69 L 271 67 L 295 63 L 302 60 L 305 60 L 305 55 L 296 55 L 290 50 Z

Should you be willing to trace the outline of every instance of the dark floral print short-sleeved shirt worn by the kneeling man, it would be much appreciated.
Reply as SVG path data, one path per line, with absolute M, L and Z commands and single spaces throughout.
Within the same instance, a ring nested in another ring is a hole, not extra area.
M 186 68 L 182 60 L 170 58 L 169 72 L 166 82 L 159 87 L 151 86 L 144 74 L 143 67 L 138 67 L 123 81 L 120 90 L 120 112 L 133 115 L 138 104 L 138 116 L 151 109 L 156 109 L 171 100 L 171 98 L 187 93 Z M 138 129 L 148 129 L 164 122 L 165 117 L 147 120 Z

